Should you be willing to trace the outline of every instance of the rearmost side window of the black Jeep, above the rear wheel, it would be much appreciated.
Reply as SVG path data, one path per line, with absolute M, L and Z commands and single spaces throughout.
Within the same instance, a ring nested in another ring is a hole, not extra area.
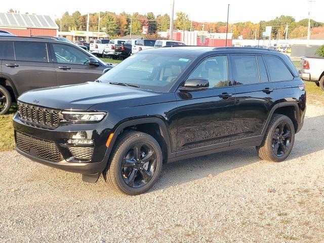
M 277 57 L 264 56 L 264 61 L 267 64 L 272 82 L 293 79 L 293 75 L 281 59 Z

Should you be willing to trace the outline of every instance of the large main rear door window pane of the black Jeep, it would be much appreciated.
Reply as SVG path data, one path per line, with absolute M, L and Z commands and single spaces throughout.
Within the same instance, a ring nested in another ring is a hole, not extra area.
M 248 85 L 259 82 L 259 70 L 255 56 L 233 55 L 231 56 L 234 74 L 234 85 Z

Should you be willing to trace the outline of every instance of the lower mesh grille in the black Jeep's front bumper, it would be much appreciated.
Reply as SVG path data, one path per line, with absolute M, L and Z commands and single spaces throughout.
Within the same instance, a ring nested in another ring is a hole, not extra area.
M 38 158 L 54 162 L 63 160 L 63 156 L 54 142 L 16 132 L 16 144 L 23 152 Z

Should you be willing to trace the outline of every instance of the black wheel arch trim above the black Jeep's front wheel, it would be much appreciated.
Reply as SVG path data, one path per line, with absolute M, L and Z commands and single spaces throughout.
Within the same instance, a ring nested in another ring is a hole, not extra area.
M 147 123 L 156 123 L 156 124 L 159 125 L 161 135 L 165 139 L 166 144 L 167 144 L 168 159 L 172 158 L 172 157 L 175 157 L 176 153 L 173 153 L 171 151 L 171 140 L 170 140 L 170 136 L 169 136 L 167 126 L 166 126 L 166 124 L 164 123 L 164 121 L 162 119 L 157 118 L 157 117 L 138 118 L 138 119 L 134 119 L 134 120 L 125 121 L 125 122 L 121 123 L 120 125 L 118 125 L 118 127 L 114 130 L 114 134 L 113 134 L 113 137 L 112 137 L 111 142 L 109 144 L 109 147 L 107 148 L 106 154 L 108 156 L 110 156 L 112 147 L 115 144 L 115 141 L 116 141 L 119 133 L 121 132 L 121 130 L 123 130 L 124 128 L 130 127 L 130 126 L 147 124 Z

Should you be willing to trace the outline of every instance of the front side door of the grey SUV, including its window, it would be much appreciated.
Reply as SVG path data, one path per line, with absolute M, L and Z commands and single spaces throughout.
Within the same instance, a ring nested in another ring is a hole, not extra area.
M 90 56 L 72 45 L 51 43 L 51 50 L 59 86 L 94 81 L 105 68 L 89 65 Z

